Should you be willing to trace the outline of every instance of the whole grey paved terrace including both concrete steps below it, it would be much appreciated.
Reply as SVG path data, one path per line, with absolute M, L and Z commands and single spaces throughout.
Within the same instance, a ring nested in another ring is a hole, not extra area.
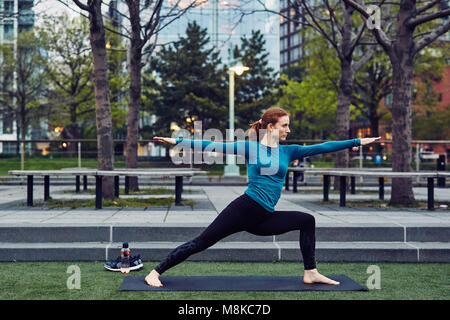
M 90 187 L 92 188 L 92 187 Z M 173 188 L 173 186 L 167 186 Z M 183 199 L 193 206 L 143 208 L 54 208 L 42 204 L 43 186 L 34 188 L 35 207 L 26 207 L 25 185 L 0 185 L 0 261 L 109 260 L 122 241 L 144 260 L 164 258 L 177 245 L 200 234 L 246 189 L 245 185 L 184 185 Z M 317 190 L 302 193 L 301 190 Z M 320 187 L 283 190 L 276 210 L 296 210 L 316 219 L 318 261 L 450 262 L 450 210 L 339 207 L 322 203 Z M 364 190 L 364 193 L 358 191 Z M 367 193 L 369 191 L 373 193 Z M 357 188 L 352 200 L 378 199 L 376 187 Z M 73 192 L 72 192 L 73 191 Z M 416 200 L 426 201 L 426 188 L 414 188 Z M 386 187 L 385 199 L 390 195 Z M 168 196 L 168 195 L 159 195 Z M 53 199 L 88 199 L 73 186 L 51 186 Z M 137 196 L 121 196 L 137 197 Z M 150 196 L 139 196 L 150 197 Z M 156 197 L 156 196 L 155 196 Z M 435 189 L 435 201 L 450 201 L 450 188 Z M 241 232 L 223 239 L 190 260 L 301 261 L 298 231 L 259 237 Z

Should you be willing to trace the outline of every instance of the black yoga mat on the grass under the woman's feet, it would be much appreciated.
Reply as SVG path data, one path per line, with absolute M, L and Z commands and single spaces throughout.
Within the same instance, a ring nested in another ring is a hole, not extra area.
M 367 291 L 345 275 L 327 276 L 339 285 L 306 284 L 303 277 L 269 276 L 167 276 L 160 277 L 163 287 L 151 287 L 143 276 L 127 276 L 120 291 Z

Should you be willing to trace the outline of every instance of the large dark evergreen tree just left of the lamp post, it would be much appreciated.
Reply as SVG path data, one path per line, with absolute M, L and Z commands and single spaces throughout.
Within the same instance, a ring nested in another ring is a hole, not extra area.
M 169 134 L 171 122 L 192 131 L 196 119 L 204 128 L 226 128 L 226 73 L 218 69 L 218 51 L 208 44 L 206 29 L 194 21 L 186 37 L 162 48 L 152 61 L 160 81 L 160 100 L 153 104 L 159 134 Z

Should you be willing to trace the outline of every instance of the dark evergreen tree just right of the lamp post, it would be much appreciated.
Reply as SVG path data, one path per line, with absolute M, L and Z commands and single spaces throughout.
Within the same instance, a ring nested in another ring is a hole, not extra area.
M 274 70 L 268 67 L 269 53 L 265 49 L 264 35 L 252 30 L 250 38 L 241 38 L 240 46 L 235 46 L 233 58 L 240 61 L 249 71 L 235 77 L 236 120 L 238 126 L 248 128 L 259 119 L 263 109 L 276 101 L 273 90 L 276 85 Z

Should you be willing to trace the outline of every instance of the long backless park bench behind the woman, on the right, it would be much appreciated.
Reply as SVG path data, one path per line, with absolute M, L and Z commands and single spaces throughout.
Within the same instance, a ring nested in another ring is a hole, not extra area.
M 338 168 L 332 169 L 310 169 L 310 168 L 289 168 L 288 172 L 294 172 L 293 180 L 293 192 L 297 192 L 297 177 L 296 173 L 303 172 L 304 174 L 310 175 L 322 175 L 323 176 L 323 201 L 328 201 L 328 193 L 330 189 L 330 177 L 339 177 L 340 186 L 339 188 L 339 205 L 345 207 L 346 202 L 346 192 L 347 192 L 347 177 L 350 177 L 350 190 L 351 194 L 355 194 L 355 177 L 376 177 L 378 178 L 378 194 L 379 199 L 384 200 L 384 179 L 385 178 L 412 178 L 412 177 L 422 177 L 427 178 L 427 208 L 428 210 L 434 209 L 434 179 L 450 177 L 450 172 L 441 171 L 430 171 L 430 172 L 393 172 L 377 169 L 377 170 L 361 170 L 361 169 L 351 169 L 340 170 Z M 287 179 L 288 182 L 289 179 Z

